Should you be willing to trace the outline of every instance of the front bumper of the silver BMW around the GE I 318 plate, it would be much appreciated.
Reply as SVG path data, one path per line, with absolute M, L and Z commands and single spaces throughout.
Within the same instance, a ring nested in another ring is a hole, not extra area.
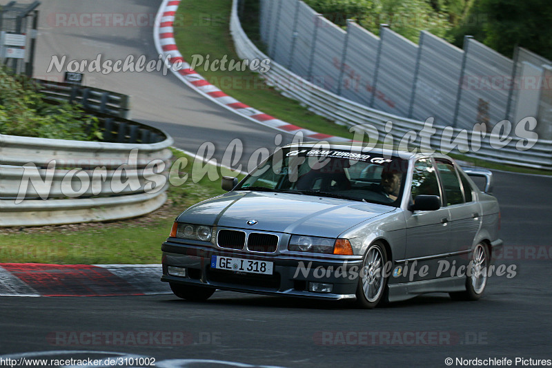
M 362 258 L 335 259 L 318 255 L 265 255 L 226 251 L 201 246 L 164 242 L 161 281 L 188 284 L 228 291 L 265 295 L 295 296 L 326 300 L 353 299 L 358 284 Z M 241 273 L 211 268 L 213 255 L 273 262 L 273 275 Z M 170 275 L 168 267 L 186 269 L 186 276 Z M 329 293 L 309 291 L 309 283 L 332 284 Z

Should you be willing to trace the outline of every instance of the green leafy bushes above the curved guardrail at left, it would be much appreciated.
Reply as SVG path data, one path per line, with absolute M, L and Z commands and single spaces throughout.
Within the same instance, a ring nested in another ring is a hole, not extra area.
M 20 81 L 21 80 L 21 81 Z M 79 141 L 101 140 L 98 119 L 68 102 L 48 104 L 30 79 L 0 68 L 0 133 Z

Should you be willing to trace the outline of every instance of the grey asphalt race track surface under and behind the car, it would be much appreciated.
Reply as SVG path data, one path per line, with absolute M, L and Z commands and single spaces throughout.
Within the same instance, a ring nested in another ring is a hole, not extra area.
M 112 59 L 142 54 L 157 59 L 150 26 L 55 27 L 45 19 L 56 12 L 155 14 L 159 3 L 43 0 L 34 74 L 46 76 L 52 55 L 80 60 L 101 52 Z M 163 128 L 186 151 L 195 152 L 210 141 L 224 152 L 226 144 L 239 137 L 248 157 L 255 148 L 270 148 L 277 135 L 206 101 L 172 75 L 86 78 L 91 86 L 132 95 L 133 119 Z M 132 355 L 156 358 L 157 367 L 446 367 L 446 358 L 551 359 L 551 187 L 550 177 L 495 173 L 501 237 L 509 246 L 499 264 L 515 264 L 517 275 L 491 278 L 478 302 L 453 302 L 445 294 L 432 294 L 365 311 L 226 291 L 217 291 L 204 303 L 167 295 L 8 297 L 0 298 L 0 359 Z M 92 332 L 123 332 L 126 340 L 95 343 L 86 338 Z M 150 333 L 150 340 L 132 344 L 140 332 Z M 169 340 L 159 338 L 167 332 Z M 184 340 L 177 332 L 184 333 Z

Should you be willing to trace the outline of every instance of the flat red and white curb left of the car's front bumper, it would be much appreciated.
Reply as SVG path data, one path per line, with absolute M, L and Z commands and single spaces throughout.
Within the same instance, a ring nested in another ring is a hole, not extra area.
M 161 264 L 0 263 L 0 296 L 170 294 Z

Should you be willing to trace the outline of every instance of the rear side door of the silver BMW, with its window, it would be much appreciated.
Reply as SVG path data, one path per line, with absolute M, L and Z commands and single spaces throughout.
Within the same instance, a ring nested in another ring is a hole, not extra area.
M 480 229 L 480 206 L 473 200 L 471 186 L 467 180 L 462 181 L 452 162 L 447 159 L 435 159 L 435 164 L 444 192 L 444 205 L 451 215 L 451 262 L 456 260 L 457 267 L 460 267 L 460 264 L 466 264 L 469 260 L 467 254 Z

